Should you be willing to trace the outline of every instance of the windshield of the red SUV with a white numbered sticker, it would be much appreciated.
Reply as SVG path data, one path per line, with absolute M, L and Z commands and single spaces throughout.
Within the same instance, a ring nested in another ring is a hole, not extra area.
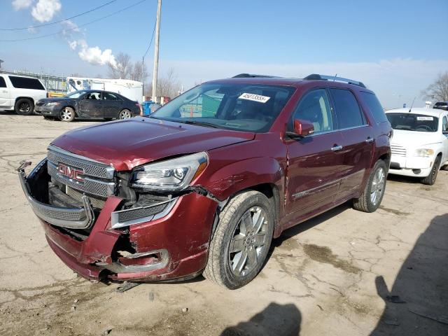
M 181 94 L 150 118 L 246 132 L 267 132 L 294 87 L 204 83 Z

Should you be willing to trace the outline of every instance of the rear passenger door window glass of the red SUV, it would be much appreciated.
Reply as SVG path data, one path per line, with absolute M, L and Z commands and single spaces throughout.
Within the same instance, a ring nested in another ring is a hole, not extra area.
M 364 125 L 358 102 L 351 91 L 330 89 L 335 102 L 335 113 L 339 129 Z

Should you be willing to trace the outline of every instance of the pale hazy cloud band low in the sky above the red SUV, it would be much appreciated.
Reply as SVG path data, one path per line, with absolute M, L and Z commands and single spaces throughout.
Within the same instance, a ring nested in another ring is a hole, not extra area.
M 386 108 L 406 103 L 424 106 L 420 91 L 433 82 L 437 73 L 448 71 L 448 59 L 383 59 L 377 62 L 325 62 L 295 64 L 257 64 L 228 61 L 163 60 L 160 73 L 176 69 L 184 87 L 216 78 L 228 78 L 237 73 L 262 73 L 274 76 L 303 78 L 310 73 L 335 75 L 360 80 L 377 93 Z

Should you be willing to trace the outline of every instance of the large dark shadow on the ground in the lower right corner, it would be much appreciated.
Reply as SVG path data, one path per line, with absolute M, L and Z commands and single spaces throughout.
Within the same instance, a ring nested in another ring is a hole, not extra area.
M 377 276 L 386 307 L 370 335 L 448 335 L 447 239 L 448 214 L 436 216 L 389 284 L 391 290 Z

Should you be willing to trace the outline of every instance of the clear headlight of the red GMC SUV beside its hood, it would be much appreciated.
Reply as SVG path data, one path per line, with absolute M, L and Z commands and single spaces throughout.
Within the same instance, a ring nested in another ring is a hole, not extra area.
M 201 152 L 150 163 L 132 172 L 131 186 L 155 191 L 183 190 L 207 167 L 208 162 L 207 153 Z

